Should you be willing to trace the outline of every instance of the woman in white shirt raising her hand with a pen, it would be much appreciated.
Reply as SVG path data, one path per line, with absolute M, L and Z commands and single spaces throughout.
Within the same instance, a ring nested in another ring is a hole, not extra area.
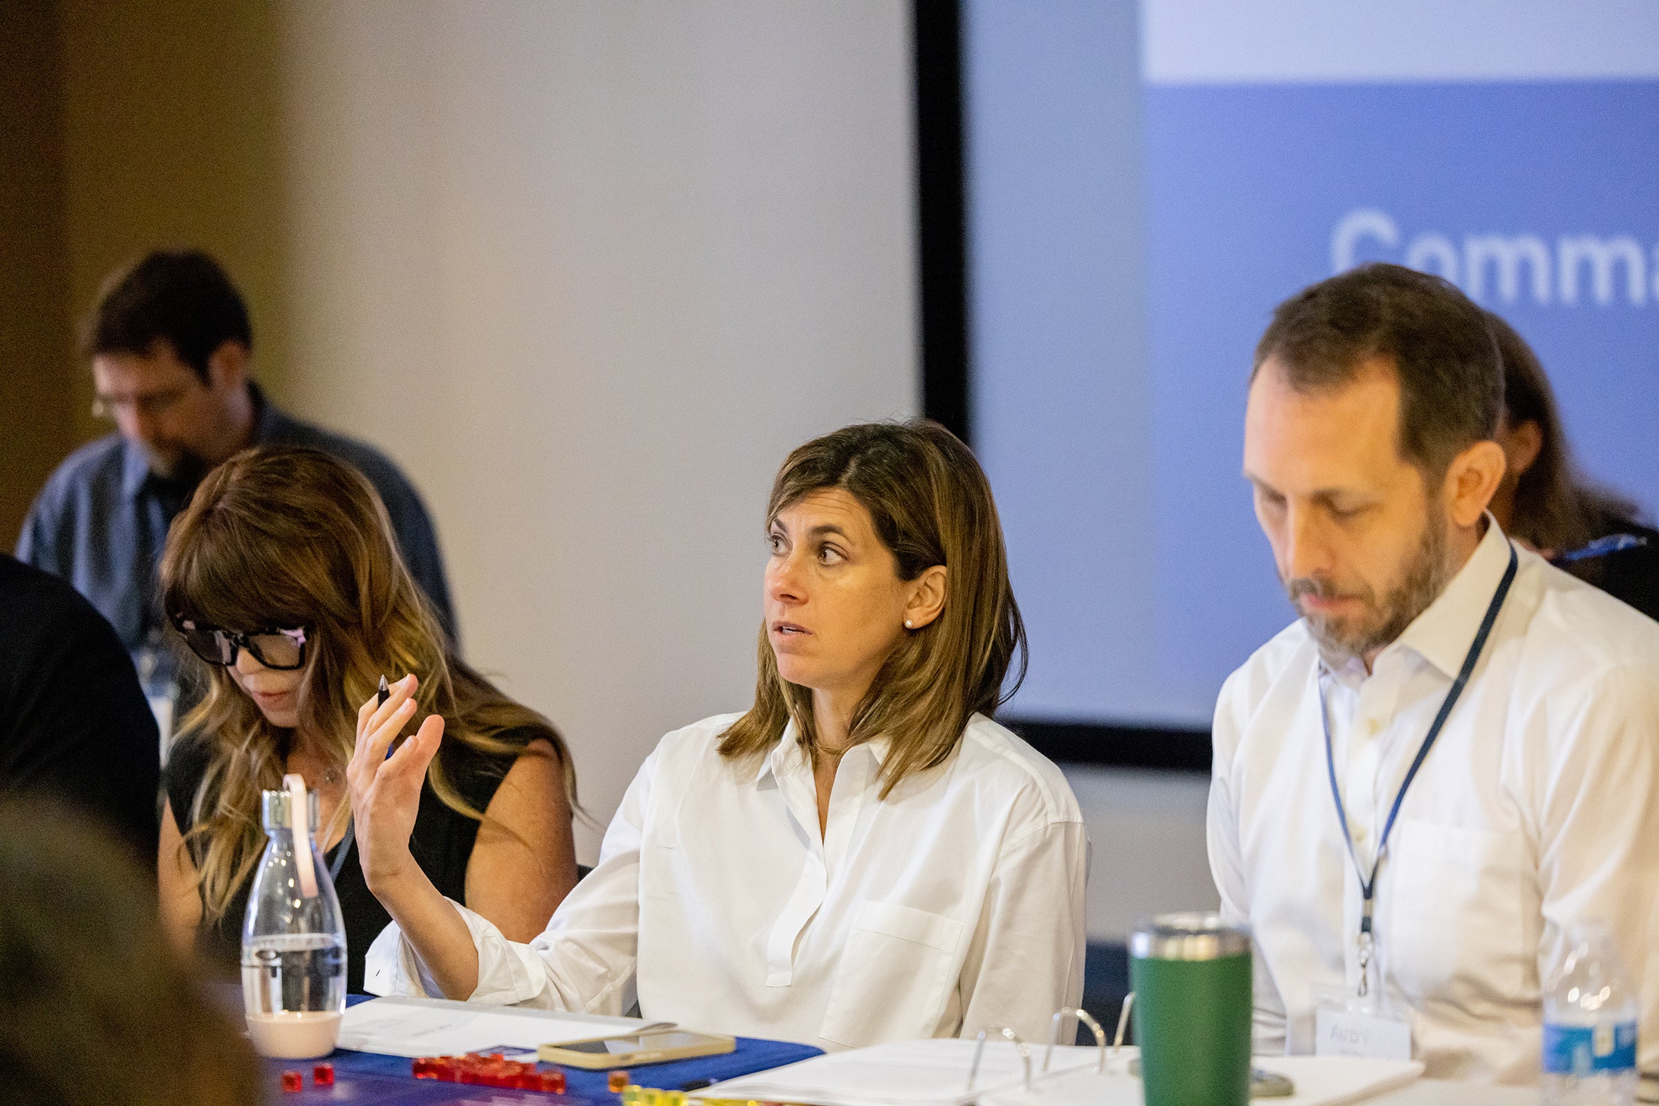
M 640 1013 L 823 1048 L 1044 1040 L 1083 980 L 1088 837 L 1060 771 L 989 715 L 1025 632 L 990 486 L 944 428 L 848 426 L 790 454 L 755 705 L 667 735 L 599 866 L 528 945 L 445 899 L 408 834 L 443 733 L 413 678 L 363 705 L 363 872 L 397 922 L 382 993 Z

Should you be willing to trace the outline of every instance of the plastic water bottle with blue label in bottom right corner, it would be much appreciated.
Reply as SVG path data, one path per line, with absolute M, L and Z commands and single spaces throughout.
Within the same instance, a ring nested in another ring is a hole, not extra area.
M 1603 925 L 1581 925 L 1545 987 L 1545 1106 L 1636 1101 L 1636 990 Z

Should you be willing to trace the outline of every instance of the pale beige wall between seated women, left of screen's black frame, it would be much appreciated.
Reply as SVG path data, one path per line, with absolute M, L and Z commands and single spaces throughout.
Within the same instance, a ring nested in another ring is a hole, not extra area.
M 425 492 L 601 822 L 748 705 L 788 449 L 916 411 L 906 7 L 284 8 L 280 391 Z

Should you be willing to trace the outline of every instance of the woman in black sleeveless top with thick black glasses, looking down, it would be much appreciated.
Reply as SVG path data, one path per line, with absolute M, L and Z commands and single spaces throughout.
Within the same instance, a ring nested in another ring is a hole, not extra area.
M 347 464 L 260 448 L 202 481 L 173 524 L 161 594 L 202 695 L 166 768 L 161 909 L 181 943 L 234 968 L 264 849 L 259 793 L 299 773 L 322 803 L 345 915 L 347 987 L 390 920 L 363 882 L 345 764 L 357 703 L 418 672 L 445 741 L 410 854 L 435 884 L 529 940 L 576 884 L 576 773 L 564 741 L 451 652 L 398 557 L 385 507 Z M 199 662 L 199 663 L 196 663 Z

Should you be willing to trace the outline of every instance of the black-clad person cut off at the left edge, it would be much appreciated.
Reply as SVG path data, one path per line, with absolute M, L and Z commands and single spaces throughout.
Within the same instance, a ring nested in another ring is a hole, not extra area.
M 68 582 L 0 554 L 0 794 L 71 803 L 149 864 L 158 746 L 133 660 L 103 615 Z

